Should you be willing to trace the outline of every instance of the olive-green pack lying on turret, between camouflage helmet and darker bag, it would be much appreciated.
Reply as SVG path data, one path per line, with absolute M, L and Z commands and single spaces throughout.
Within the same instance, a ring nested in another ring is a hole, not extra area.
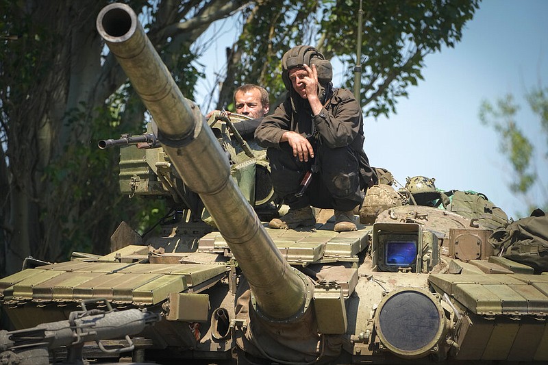
M 495 206 L 484 194 L 477 192 L 453 191 L 447 210 L 465 218 L 475 218 L 479 226 L 485 229 L 495 230 L 506 227 L 510 223 L 508 216 L 501 208 Z

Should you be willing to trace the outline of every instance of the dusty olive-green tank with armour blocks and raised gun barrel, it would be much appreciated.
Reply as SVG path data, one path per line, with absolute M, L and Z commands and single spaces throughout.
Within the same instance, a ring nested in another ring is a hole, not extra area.
M 266 228 L 277 207 L 264 150 L 235 132 L 245 117 L 203 123 L 127 5 L 97 29 L 157 126 L 100 145 L 130 144 L 123 194 L 173 210 L 160 236 L 123 223 L 108 255 L 0 279 L 2 364 L 548 361 L 548 275 L 493 255 L 492 229 L 390 186 L 370 189 L 356 231 L 325 210 L 315 227 Z

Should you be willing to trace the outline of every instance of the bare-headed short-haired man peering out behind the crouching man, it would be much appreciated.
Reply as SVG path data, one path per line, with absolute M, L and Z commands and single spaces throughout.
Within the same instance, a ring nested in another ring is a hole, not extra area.
M 234 109 L 236 113 L 251 118 L 234 123 L 234 127 L 243 138 L 253 138 L 255 129 L 270 110 L 269 92 L 258 85 L 244 84 L 234 91 Z M 209 112 L 206 118 L 214 113 L 219 113 L 219 110 Z

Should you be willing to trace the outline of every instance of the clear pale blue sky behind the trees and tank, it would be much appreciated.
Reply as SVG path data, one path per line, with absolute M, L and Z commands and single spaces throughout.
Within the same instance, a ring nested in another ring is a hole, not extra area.
M 425 79 L 408 90 L 408 99 L 399 99 L 397 114 L 366 119 L 364 149 L 371 164 L 388 168 L 401 184 L 408 176 L 434 177 L 437 188 L 483 192 L 509 216 L 528 215 L 527 205 L 508 189 L 511 169 L 497 134 L 479 122 L 478 112 L 483 99 L 514 95 L 521 104 L 519 125 L 537 147 L 537 173 L 548 186 L 547 139 L 523 99 L 540 81 L 548 85 L 547 16 L 545 0 L 480 3 L 461 42 L 427 56 Z M 214 24 L 212 32 L 229 30 Z M 227 44 L 214 41 L 219 56 L 201 60 L 209 75 L 222 72 Z M 211 90 L 212 82 L 204 80 L 201 89 Z M 206 99 L 205 92 L 198 93 L 202 108 Z M 547 201 L 546 188 L 536 187 L 530 200 Z

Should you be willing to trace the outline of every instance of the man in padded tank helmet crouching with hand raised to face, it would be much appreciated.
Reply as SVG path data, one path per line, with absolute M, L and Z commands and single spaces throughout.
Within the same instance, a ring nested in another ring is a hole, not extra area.
M 334 209 L 335 231 L 353 231 L 353 209 L 377 177 L 363 151 L 360 103 L 349 90 L 332 87 L 332 65 L 310 46 L 293 47 L 282 58 L 284 103 L 266 116 L 255 132 L 268 147 L 271 179 L 288 214 L 272 228 L 314 225 L 310 205 Z M 308 173 L 312 180 L 303 188 Z

